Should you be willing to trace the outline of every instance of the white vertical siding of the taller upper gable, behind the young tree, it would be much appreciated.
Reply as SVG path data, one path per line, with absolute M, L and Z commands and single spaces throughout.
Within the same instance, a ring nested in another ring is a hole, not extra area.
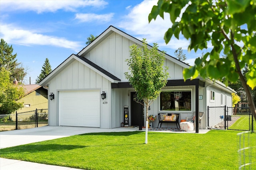
M 114 32 L 87 53 L 85 58 L 120 78 L 121 82 L 127 82 L 128 80 L 124 76 L 124 72 L 129 72 L 126 59 L 130 58 L 130 46 L 133 44 L 136 43 Z M 138 45 L 138 47 L 142 46 Z M 167 58 L 164 61 L 164 66 L 168 66 L 170 76 L 168 80 L 183 79 L 184 67 Z

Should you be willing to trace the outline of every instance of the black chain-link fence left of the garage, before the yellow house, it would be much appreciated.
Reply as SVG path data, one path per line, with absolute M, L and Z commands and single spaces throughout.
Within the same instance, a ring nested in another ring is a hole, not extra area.
M 36 109 L 11 115 L 0 115 L 0 131 L 29 129 L 48 125 L 48 109 Z

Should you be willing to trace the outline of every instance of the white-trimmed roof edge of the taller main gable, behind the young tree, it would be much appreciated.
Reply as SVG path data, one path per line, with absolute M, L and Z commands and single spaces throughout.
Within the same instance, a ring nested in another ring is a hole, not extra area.
M 108 27 L 108 29 L 106 29 L 103 33 L 101 33 L 96 39 L 94 39 L 94 41 L 92 41 L 90 44 L 88 44 L 86 47 L 84 47 L 84 49 L 82 49 L 78 55 L 81 56 L 81 57 L 84 57 L 87 53 L 89 53 L 92 49 L 94 49 L 97 45 L 99 45 L 102 41 L 101 39 L 106 39 L 108 36 L 110 36 L 112 33 L 118 33 L 120 35 L 122 35 L 123 37 L 126 37 L 127 39 L 130 39 L 131 41 L 134 41 L 136 44 L 139 44 L 139 45 L 143 45 L 143 42 L 132 37 L 131 35 L 125 33 L 124 31 L 121 31 L 120 29 L 110 25 Z M 151 49 L 152 46 L 151 45 L 148 45 L 148 48 Z M 158 50 L 160 51 L 160 50 Z M 188 68 L 190 65 L 172 57 L 171 55 L 168 55 L 165 53 L 165 57 L 166 59 L 174 62 L 174 63 L 177 63 L 179 64 L 180 66 L 184 67 L 184 68 Z

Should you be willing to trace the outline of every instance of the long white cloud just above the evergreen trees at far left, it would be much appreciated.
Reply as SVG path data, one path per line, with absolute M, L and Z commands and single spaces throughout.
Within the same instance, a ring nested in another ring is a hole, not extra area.
M 10 44 L 18 45 L 53 45 L 56 47 L 63 47 L 72 49 L 76 52 L 82 48 L 80 42 L 69 41 L 65 38 L 43 35 L 36 33 L 36 31 L 24 30 L 16 28 L 14 25 L 0 25 L 1 38 Z

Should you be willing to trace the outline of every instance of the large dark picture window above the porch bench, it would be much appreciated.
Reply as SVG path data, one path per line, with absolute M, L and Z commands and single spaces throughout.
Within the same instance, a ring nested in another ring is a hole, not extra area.
M 191 89 L 160 93 L 160 111 L 191 111 Z

